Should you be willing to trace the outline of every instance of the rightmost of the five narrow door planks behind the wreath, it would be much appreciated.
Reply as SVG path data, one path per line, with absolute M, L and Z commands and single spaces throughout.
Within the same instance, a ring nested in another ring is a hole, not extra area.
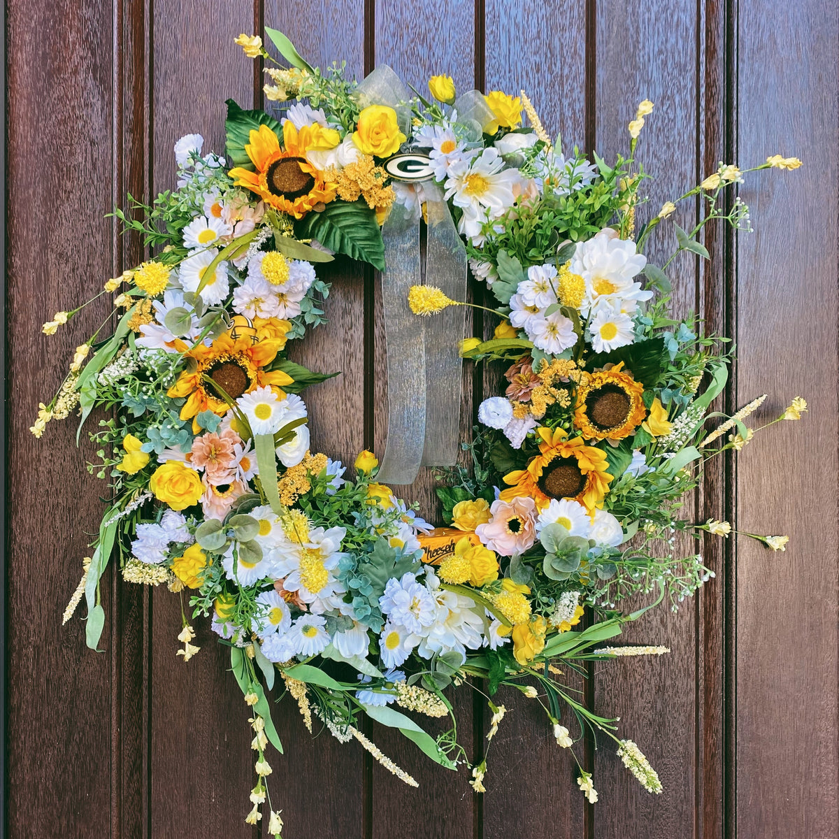
M 638 144 L 638 159 L 654 175 L 642 192 L 649 203 L 638 211 L 638 224 L 696 183 L 699 79 L 696 38 L 700 21 L 696 3 L 652 0 L 642 6 L 597 3 L 595 145 L 605 159 L 629 145 L 627 123 L 644 98 L 655 103 Z M 631 46 L 628 46 L 631 45 Z M 675 216 L 692 227 L 696 209 L 680 206 Z M 649 256 L 675 250 L 672 228 L 659 227 Z M 696 259 L 673 263 L 673 303 L 680 314 L 696 310 Z M 695 516 L 696 499 L 685 503 L 685 518 Z M 668 550 L 661 545 L 661 550 Z M 677 539 L 681 555 L 695 552 L 692 539 Z M 665 657 L 624 659 L 598 665 L 594 675 L 595 710 L 620 717 L 619 737 L 632 739 L 659 772 L 664 793 L 649 795 L 624 769 L 615 746 L 598 738 L 594 783 L 599 801 L 590 814 L 594 836 L 616 836 L 633 814 L 651 837 L 692 836 L 695 828 L 696 764 L 696 602 L 686 600 L 679 612 L 666 607 L 648 613 L 624 630 L 626 644 L 666 644 Z M 590 828 L 591 829 L 591 828 Z

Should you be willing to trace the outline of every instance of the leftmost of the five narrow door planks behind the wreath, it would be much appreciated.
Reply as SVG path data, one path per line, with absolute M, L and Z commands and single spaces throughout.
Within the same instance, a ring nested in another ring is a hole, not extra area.
M 224 100 L 253 107 L 253 65 L 233 44 L 253 30 L 251 0 L 195 5 L 154 3 L 152 188 L 175 186 L 172 148 L 185 133 L 201 133 L 204 149 L 223 154 Z M 189 592 L 182 594 L 190 612 Z M 155 590 L 151 649 L 151 831 L 167 836 L 214 833 L 250 837 L 245 824 L 253 787 L 248 707 L 228 672 L 227 648 L 205 621 L 195 622 L 201 653 L 175 657 L 179 597 Z M 276 754 L 272 752 L 273 763 Z M 271 758 L 269 758 L 269 761 Z

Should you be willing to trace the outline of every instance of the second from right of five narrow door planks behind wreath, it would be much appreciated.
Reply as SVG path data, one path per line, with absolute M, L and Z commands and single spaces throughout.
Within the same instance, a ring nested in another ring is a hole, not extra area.
M 566 3 L 557 14 L 554 5 L 539 0 L 524 15 L 503 0 L 487 0 L 486 7 L 487 91 L 519 96 L 524 88 L 545 128 L 553 136 L 561 133 L 565 149 L 586 142 L 585 6 L 582 0 Z M 485 377 L 487 395 L 498 393 L 495 367 Z M 565 684 L 569 676 L 571 686 L 581 689 L 574 674 L 565 674 Z M 518 836 L 523 826 L 529 835 L 582 836 L 585 803 L 576 789 L 576 763 L 557 746 L 545 711 L 518 690 L 499 691 L 494 701 L 511 711 L 489 749 L 483 836 Z M 563 722 L 576 736 L 576 723 Z M 575 748 L 582 760 L 583 743 Z

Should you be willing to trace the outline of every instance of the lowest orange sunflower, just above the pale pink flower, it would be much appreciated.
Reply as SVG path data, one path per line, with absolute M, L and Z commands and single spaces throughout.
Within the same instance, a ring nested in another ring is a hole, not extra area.
M 530 460 L 526 469 L 504 476 L 509 487 L 498 498 L 507 501 L 529 496 L 539 509 L 545 508 L 551 498 L 571 498 L 589 513 L 601 507 L 612 481 L 606 471 L 606 453 L 586 446 L 581 437 L 569 440 L 567 432 L 560 428 L 538 428 L 536 434 L 542 440 L 539 454 Z

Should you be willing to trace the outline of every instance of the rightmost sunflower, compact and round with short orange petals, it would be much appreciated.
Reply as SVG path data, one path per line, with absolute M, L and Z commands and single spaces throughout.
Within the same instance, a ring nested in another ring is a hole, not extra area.
M 644 422 L 644 385 L 621 367 L 586 373 L 577 384 L 574 425 L 586 440 L 623 440 Z

